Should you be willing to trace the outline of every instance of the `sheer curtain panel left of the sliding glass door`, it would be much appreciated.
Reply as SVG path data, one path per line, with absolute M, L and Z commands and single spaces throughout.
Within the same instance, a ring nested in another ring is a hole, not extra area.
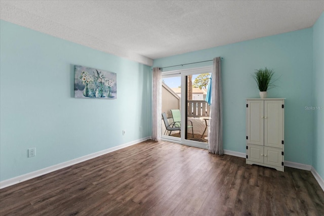
M 161 70 L 157 67 L 153 68 L 152 77 L 152 140 L 161 140 L 161 94 L 162 94 L 162 79 Z

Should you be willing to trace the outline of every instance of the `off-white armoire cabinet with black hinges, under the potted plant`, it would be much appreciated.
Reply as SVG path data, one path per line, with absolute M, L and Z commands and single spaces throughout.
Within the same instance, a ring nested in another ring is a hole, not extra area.
M 284 171 L 283 98 L 247 99 L 247 164 Z

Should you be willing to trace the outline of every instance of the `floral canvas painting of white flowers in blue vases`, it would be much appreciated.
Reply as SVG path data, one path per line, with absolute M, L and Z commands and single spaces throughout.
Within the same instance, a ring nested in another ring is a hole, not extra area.
M 117 74 L 75 65 L 74 98 L 117 98 Z

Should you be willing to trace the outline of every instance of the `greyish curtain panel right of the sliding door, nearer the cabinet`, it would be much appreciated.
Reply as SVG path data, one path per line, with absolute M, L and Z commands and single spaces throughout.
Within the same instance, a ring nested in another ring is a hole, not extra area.
M 212 71 L 212 100 L 208 130 L 208 149 L 215 154 L 224 154 L 222 120 L 221 58 L 214 58 Z

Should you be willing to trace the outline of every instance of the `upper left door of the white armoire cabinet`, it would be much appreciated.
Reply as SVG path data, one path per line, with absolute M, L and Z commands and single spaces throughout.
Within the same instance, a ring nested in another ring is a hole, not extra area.
M 263 146 L 263 101 L 247 101 L 247 143 Z

